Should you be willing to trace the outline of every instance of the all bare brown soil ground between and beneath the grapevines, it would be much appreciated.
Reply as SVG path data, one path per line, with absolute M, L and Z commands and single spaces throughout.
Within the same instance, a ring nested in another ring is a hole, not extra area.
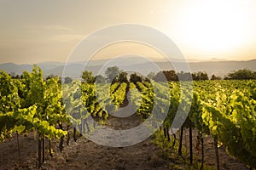
M 111 118 L 108 126 L 119 128 L 135 127 L 140 123 L 139 118 L 135 115 L 126 118 Z M 194 148 L 197 142 L 196 133 L 194 132 Z M 178 136 L 178 135 L 177 135 Z M 37 150 L 38 143 L 33 133 L 26 137 L 20 136 L 20 169 L 37 168 Z M 60 152 L 57 148 L 58 140 L 53 141 L 54 156 L 50 157 L 46 153 L 46 161 L 41 169 L 86 169 L 86 170 L 126 170 L 126 169 L 172 169 L 174 162 L 164 160 L 160 156 L 160 148 L 152 143 L 150 137 L 140 144 L 129 147 L 113 148 L 95 144 L 84 137 L 74 142 L 70 140 L 67 146 L 65 143 L 64 150 Z M 188 132 L 185 132 L 184 143 L 189 144 Z M 49 149 L 48 142 L 46 149 Z M 195 156 L 200 157 L 194 150 Z M 228 156 L 224 148 L 219 149 L 221 169 L 247 169 L 241 162 Z M 200 161 L 200 160 L 199 160 Z M 205 162 L 207 165 L 215 165 L 215 152 L 213 140 L 210 137 L 205 138 Z M 16 136 L 0 144 L 0 170 L 19 169 L 19 154 L 17 150 Z

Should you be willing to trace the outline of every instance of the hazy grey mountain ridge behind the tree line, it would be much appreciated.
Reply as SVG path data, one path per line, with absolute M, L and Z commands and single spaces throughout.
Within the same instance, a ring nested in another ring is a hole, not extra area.
M 98 59 L 90 61 L 90 65 L 86 67 L 86 70 L 93 71 L 94 74 L 102 68 L 102 65 L 106 63 L 106 59 Z M 66 65 L 68 70 L 67 74 L 71 77 L 79 77 L 81 70 L 84 69 L 84 62 L 70 63 Z M 159 65 L 161 70 L 173 70 L 173 66 L 170 63 L 166 62 L 155 62 L 156 65 Z M 174 65 L 183 65 L 182 62 L 173 62 Z M 44 76 L 49 75 L 58 75 L 61 76 L 65 63 L 62 62 L 44 62 L 39 63 L 38 66 L 44 71 Z M 32 71 L 33 65 L 16 65 L 14 63 L 3 63 L 0 64 L 0 70 L 7 71 L 9 73 L 22 74 L 23 71 Z M 148 75 L 150 71 L 157 71 L 152 69 L 151 63 L 142 60 L 135 59 L 124 59 L 119 61 L 119 67 L 122 70 L 136 70 L 139 68 L 144 75 Z M 211 61 L 195 61 L 189 62 L 189 67 L 192 72 L 195 71 L 207 71 L 208 75 L 211 76 L 215 74 L 220 77 L 224 77 L 230 71 L 236 71 L 240 69 L 249 69 L 256 71 L 256 59 L 251 59 L 247 61 L 233 61 L 233 60 L 215 60 Z

